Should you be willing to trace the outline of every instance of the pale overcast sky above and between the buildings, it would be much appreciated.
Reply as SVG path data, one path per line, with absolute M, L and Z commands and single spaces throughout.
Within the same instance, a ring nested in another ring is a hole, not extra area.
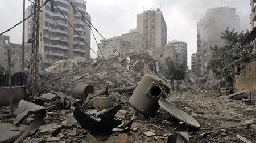
M 26 0 L 26 7 L 30 2 Z M 204 17 L 209 8 L 236 8 L 236 15 L 240 16 L 242 30 L 250 30 L 250 0 L 88 0 L 87 12 L 92 18 L 92 24 L 105 38 L 129 33 L 136 28 L 137 14 L 146 10 L 160 8 L 167 25 L 167 41 L 174 39 L 187 42 L 188 65 L 191 65 L 191 54 L 197 49 L 197 21 Z M 0 33 L 13 27 L 22 20 L 22 0 L 1 0 Z M 22 44 L 22 24 L 5 33 L 10 36 L 10 42 Z M 94 32 L 96 34 L 96 32 Z M 96 39 L 101 38 L 96 34 Z M 92 49 L 97 52 L 97 45 L 92 37 Z M 96 57 L 92 52 L 91 55 Z

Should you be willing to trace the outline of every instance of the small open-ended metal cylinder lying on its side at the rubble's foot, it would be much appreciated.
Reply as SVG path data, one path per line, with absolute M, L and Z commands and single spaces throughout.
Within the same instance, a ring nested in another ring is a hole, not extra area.
M 94 94 L 95 89 L 93 85 L 88 85 L 85 83 L 78 83 L 76 88 L 72 89 L 72 96 L 73 97 L 86 97 L 89 93 Z

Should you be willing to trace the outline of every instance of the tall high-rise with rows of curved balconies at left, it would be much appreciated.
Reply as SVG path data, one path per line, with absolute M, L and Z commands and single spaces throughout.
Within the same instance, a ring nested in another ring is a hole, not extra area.
M 46 0 L 43 0 L 44 3 Z M 90 15 L 84 0 L 55 0 L 41 8 L 39 23 L 39 58 L 45 67 L 58 60 L 90 58 Z M 79 14 L 77 14 L 77 12 Z M 26 15 L 32 13 L 28 7 Z M 84 18 L 82 17 L 84 15 Z M 67 19 L 67 20 L 66 20 Z M 75 28 L 76 31 L 73 30 Z M 32 41 L 33 20 L 26 21 L 25 42 Z M 26 44 L 30 52 L 31 45 Z

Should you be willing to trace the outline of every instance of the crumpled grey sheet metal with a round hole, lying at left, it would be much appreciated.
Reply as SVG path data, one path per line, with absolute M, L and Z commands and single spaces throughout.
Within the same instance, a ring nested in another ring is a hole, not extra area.
M 46 116 L 46 110 L 43 106 L 20 100 L 18 109 L 14 111 L 17 117 L 13 123 L 20 128 L 22 132 L 28 131 L 28 135 L 32 135 L 40 127 L 42 120 Z M 30 115 L 35 115 L 34 120 L 30 124 L 26 124 L 26 119 Z

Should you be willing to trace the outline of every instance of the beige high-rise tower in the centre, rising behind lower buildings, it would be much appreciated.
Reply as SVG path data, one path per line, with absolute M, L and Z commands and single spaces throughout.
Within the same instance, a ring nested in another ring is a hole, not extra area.
M 146 38 L 146 50 L 164 47 L 167 43 L 166 21 L 159 8 L 137 14 L 137 31 Z

